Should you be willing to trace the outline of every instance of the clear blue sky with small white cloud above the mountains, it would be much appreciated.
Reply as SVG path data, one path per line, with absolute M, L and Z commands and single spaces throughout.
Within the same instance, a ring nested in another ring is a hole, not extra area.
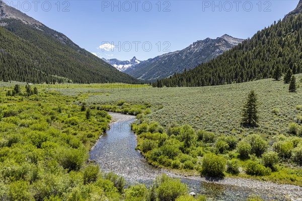
M 223 34 L 246 39 L 298 4 L 298 0 L 6 2 L 99 57 L 120 60 L 133 56 L 146 60 Z

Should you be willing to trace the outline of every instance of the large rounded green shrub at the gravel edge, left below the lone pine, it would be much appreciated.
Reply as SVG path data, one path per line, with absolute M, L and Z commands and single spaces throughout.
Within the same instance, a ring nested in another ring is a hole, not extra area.
M 224 177 L 225 159 L 215 154 L 204 155 L 201 175 Z

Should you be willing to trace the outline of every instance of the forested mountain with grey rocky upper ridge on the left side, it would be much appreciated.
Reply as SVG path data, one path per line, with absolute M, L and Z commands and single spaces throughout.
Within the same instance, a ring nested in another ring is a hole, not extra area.
M 0 0 L 0 80 L 32 83 L 138 81 L 68 37 Z

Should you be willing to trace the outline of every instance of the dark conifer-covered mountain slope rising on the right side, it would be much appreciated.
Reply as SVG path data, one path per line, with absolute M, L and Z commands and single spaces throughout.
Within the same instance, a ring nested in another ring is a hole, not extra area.
M 154 86 L 205 86 L 269 78 L 279 65 L 282 73 L 302 68 L 302 1 L 284 20 L 274 22 L 217 58 L 169 78 Z

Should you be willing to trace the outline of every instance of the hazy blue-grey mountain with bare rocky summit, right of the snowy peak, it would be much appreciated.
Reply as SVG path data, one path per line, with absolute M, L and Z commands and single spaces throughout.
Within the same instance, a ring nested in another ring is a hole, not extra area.
M 183 72 L 185 69 L 192 69 L 217 57 L 242 41 L 243 39 L 233 38 L 229 35 L 223 35 L 216 39 L 207 38 L 194 42 L 183 50 L 148 59 L 124 72 L 140 80 L 155 81 L 174 73 Z

